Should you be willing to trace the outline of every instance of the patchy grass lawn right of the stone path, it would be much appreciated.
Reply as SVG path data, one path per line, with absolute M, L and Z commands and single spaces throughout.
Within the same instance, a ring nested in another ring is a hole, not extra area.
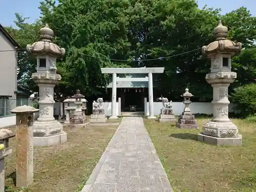
M 144 119 L 174 191 L 256 191 L 256 123 L 232 119 L 242 146 L 215 146 L 197 141 L 199 130 L 180 130 L 170 123 Z

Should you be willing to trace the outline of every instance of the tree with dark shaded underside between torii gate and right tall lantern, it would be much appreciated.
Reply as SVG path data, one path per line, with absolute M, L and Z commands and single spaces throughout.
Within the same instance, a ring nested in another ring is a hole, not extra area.
M 179 95 L 188 86 L 195 95 L 207 97 L 202 94 L 204 91 L 211 97 L 211 88 L 204 79 L 209 65 L 199 49 L 212 39 L 219 10 L 200 10 L 193 0 L 133 0 L 131 5 L 129 31 L 133 55 L 141 59 L 160 57 L 134 66 L 165 68 L 164 74 L 156 77 L 162 95 L 181 99 Z M 198 50 L 182 54 L 195 49 Z M 161 59 L 169 55 L 177 56 Z

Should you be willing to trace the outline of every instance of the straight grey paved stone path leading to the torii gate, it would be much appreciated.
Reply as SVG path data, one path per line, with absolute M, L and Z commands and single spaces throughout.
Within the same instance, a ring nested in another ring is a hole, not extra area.
M 141 117 L 123 117 L 81 192 L 173 192 Z

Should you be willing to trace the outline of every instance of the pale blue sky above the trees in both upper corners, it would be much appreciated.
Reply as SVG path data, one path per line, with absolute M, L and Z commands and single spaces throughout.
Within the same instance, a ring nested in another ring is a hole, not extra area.
M 40 11 L 38 9 L 39 0 L 1 0 L 0 7 L 0 23 L 3 26 L 15 26 L 14 13 L 22 14 L 25 17 L 30 17 L 27 22 L 32 23 L 39 18 Z M 225 14 L 239 7 L 246 7 L 250 10 L 253 16 L 256 16 L 256 1 L 255 0 L 198 0 L 199 8 L 204 5 L 207 7 L 221 8 Z

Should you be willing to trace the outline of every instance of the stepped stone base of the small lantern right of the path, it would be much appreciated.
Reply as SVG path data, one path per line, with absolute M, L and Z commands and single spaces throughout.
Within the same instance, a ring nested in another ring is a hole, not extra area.
M 176 127 L 180 129 L 198 129 L 194 115 L 180 115 Z

